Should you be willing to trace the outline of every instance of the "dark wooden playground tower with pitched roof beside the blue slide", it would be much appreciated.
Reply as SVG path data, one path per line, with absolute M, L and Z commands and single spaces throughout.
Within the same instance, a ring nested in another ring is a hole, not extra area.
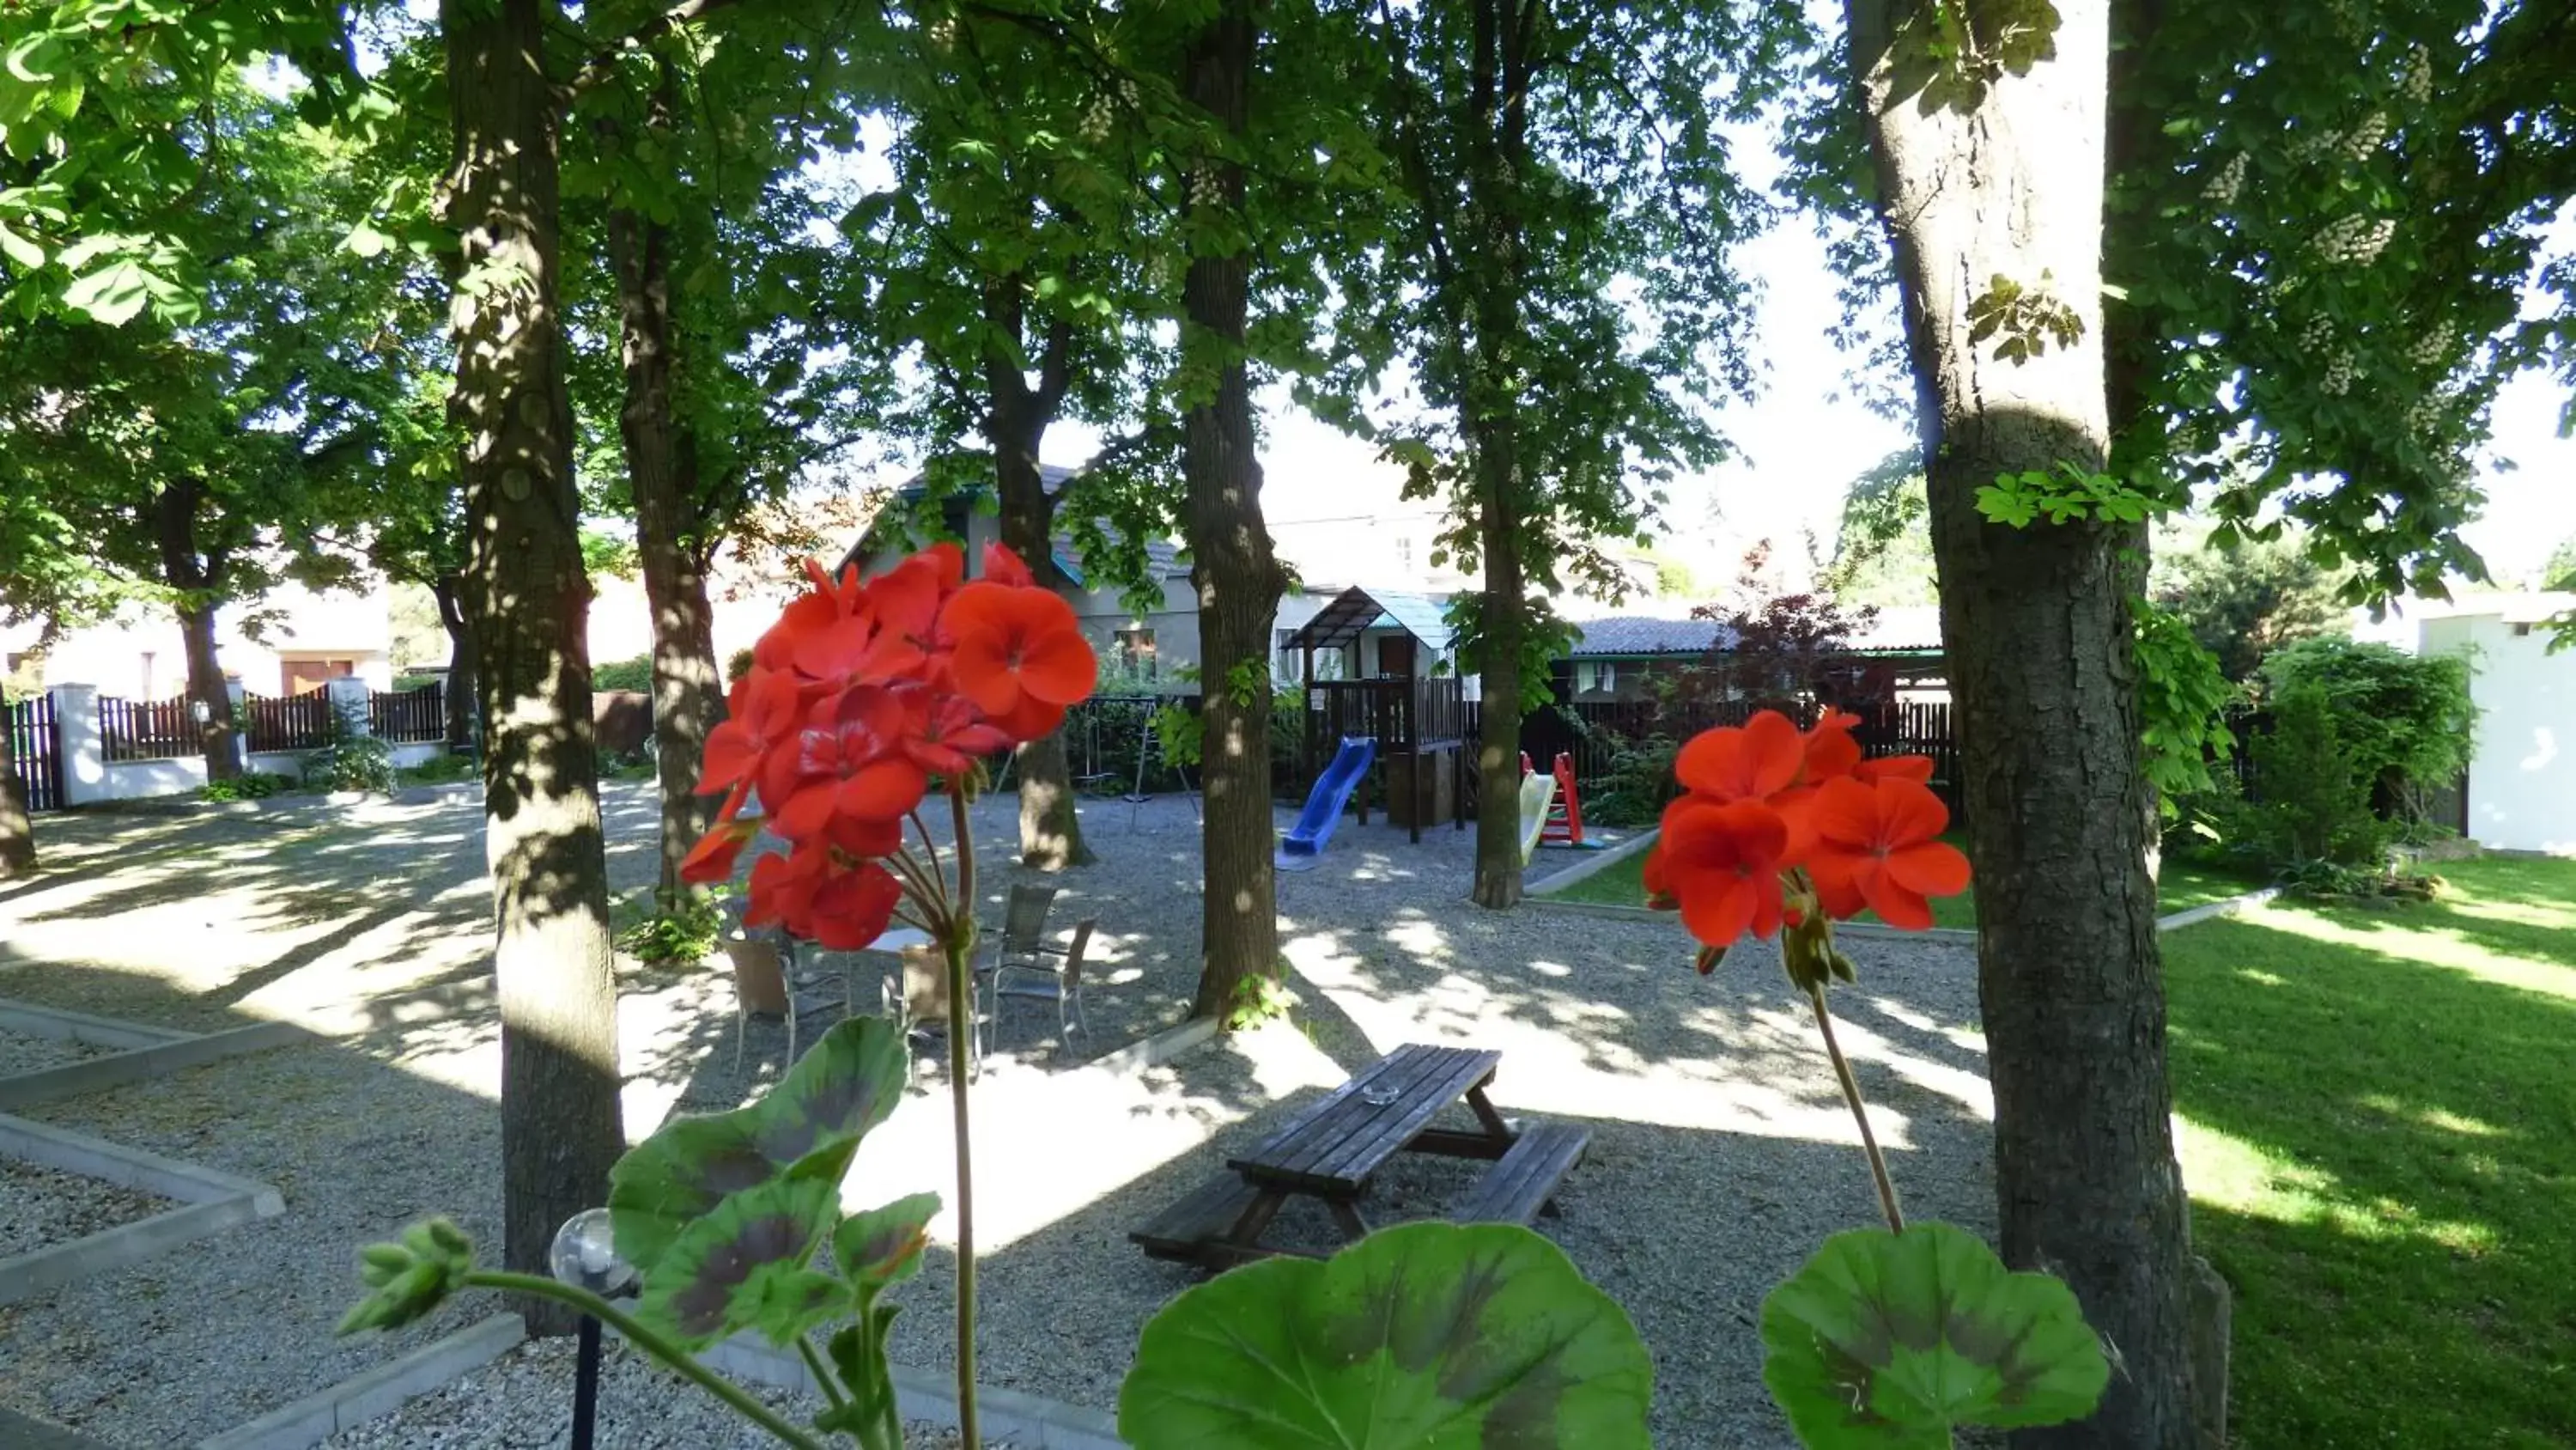
M 1466 685 L 1455 675 L 1430 672 L 1430 662 L 1450 649 L 1450 628 L 1440 603 L 1427 595 L 1350 587 L 1332 598 L 1285 641 L 1303 654 L 1306 721 L 1301 762 L 1321 760 L 1324 742 L 1342 742 L 1332 765 L 1316 775 L 1316 791 L 1345 765 L 1352 739 L 1368 739 L 1370 762 L 1360 765 L 1342 793 L 1368 824 L 1368 778 L 1386 791 L 1386 816 L 1406 827 L 1414 842 L 1422 824 L 1450 819 L 1466 829 Z M 1316 652 L 1334 652 L 1350 675 L 1316 680 Z M 1368 657 L 1373 654 L 1373 659 Z M 1316 806 L 1309 798 L 1309 811 Z

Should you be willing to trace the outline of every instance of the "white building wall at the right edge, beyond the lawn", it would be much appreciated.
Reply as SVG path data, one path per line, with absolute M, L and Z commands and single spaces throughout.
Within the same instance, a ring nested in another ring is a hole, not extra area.
M 2576 855 L 2576 649 L 2550 654 L 2550 621 L 2576 592 L 2473 595 L 2421 605 L 2419 654 L 2468 654 L 2478 755 L 2468 834 L 2499 850 Z

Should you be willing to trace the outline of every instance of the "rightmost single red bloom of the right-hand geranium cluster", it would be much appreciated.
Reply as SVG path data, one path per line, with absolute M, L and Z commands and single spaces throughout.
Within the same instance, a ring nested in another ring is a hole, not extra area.
M 1950 809 L 1917 780 L 1826 780 L 1808 824 L 1816 842 L 1806 865 L 1832 917 L 1868 907 L 1891 927 L 1919 932 L 1932 925 L 1929 896 L 1968 889 L 1968 858 L 1940 840 Z

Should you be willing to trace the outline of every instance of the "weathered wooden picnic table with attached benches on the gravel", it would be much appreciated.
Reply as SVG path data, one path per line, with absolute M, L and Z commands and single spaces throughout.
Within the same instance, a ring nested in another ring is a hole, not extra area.
M 1515 1131 L 1484 1089 L 1502 1053 L 1406 1043 L 1360 1069 L 1283 1128 L 1229 1156 L 1226 1172 L 1128 1234 L 1157 1259 L 1231 1267 L 1267 1254 L 1311 1254 L 1262 1244 L 1291 1195 L 1316 1198 L 1345 1236 L 1368 1234 L 1360 1195 L 1396 1154 L 1486 1159 L 1494 1167 L 1450 1210 L 1458 1223 L 1528 1223 L 1551 1208 L 1558 1180 L 1584 1156 L 1589 1133 L 1571 1123 Z M 1432 1128 L 1443 1107 L 1466 1100 L 1476 1128 Z

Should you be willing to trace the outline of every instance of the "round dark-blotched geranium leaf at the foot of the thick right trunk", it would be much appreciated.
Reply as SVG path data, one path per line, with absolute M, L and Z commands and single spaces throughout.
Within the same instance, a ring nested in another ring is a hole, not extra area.
M 1958 1424 L 2063 1424 L 2110 1383 L 2074 1290 L 1950 1223 L 1834 1234 L 1762 1301 L 1762 1383 L 1811 1447 L 1950 1445 Z

